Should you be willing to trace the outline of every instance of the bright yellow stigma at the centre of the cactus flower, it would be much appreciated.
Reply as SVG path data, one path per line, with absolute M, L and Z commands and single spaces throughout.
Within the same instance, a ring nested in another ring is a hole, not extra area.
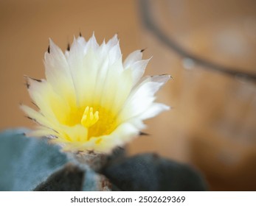
M 91 127 L 99 120 L 99 112 L 94 113 L 93 107 L 86 107 L 86 110 L 83 112 L 83 117 L 81 119 L 81 124 L 83 127 Z

